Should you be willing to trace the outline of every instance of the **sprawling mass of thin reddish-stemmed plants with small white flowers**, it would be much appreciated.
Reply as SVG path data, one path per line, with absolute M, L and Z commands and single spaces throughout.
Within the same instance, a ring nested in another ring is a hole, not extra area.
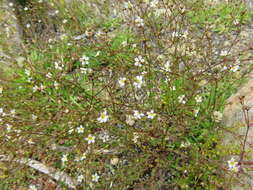
M 48 3 L 61 32 L 26 44 L 1 85 L 0 149 L 10 163 L 0 165 L 3 187 L 226 189 L 224 173 L 235 167 L 222 161 L 220 121 L 248 58 L 247 50 L 232 53 L 230 33 L 249 21 L 245 6 Z M 19 159 L 62 171 L 73 184 Z

